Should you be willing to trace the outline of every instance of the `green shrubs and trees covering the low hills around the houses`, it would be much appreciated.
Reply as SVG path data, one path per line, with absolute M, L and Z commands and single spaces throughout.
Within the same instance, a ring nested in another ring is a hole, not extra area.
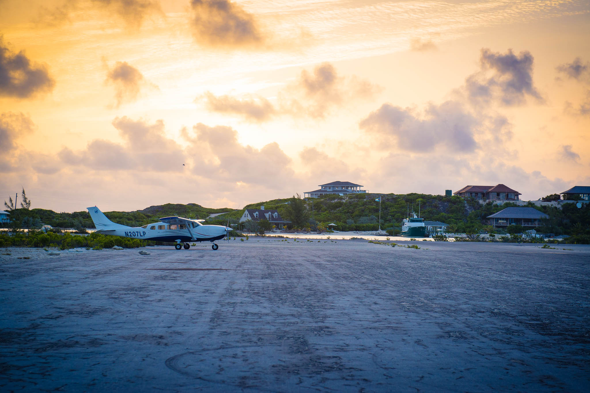
M 24 194 L 24 190 L 23 190 Z M 127 226 L 142 226 L 157 222 L 160 217 L 183 216 L 193 219 L 206 219 L 209 214 L 224 213 L 208 220 L 207 224 L 225 225 L 237 224 L 245 209 L 278 210 L 282 217 L 290 220 L 290 227 L 312 230 L 326 229 L 327 224 L 336 223 L 337 230 L 377 230 L 379 228 L 379 194 L 359 193 L 345 196 L 329 195 L 316 199 L 303 200 L 299 196 L 289 199 L 275 199 L 267 202 L 248 204 L 241 210 L 208 209 L 198 204 L 165 204 L 150 206 L 136 212 L 106 212 L 106 216 L 113 222 Z M 549 196 L 550 197 L 550 196 Z M 24 198 L 23 198 L 24 199 Z M 30 201 L 27 200 L 28 203 Z M 27 206 L 25 204 L 25 206 Z M 402 220 L 408 211 L 420 214 L 430 221 L 440 221 L 449 225 L 448 232 L 454 233 L 520 233 L 526 228 L 510 226 L 506 230 L 494 229 L 487 225 L 487 216 L 500 210 L 517 206 L 514 203 L 502 205 L 491 202 L 481 204 L 475 199 L 463 199 L 457 196 L 427 195 L 427 194 L 383 194 L 381 195 L 381 229 L 390 233 L 398 233 Z M 575 236 L 578 243 L 590 243 L 590 206 L 584 204 L 581 209 L 575 203 L 563 203 L 561 208 L 554 206 L 527 206 L 540 210 L 549 215 L 545 226 L 537 228 L 537 232 L 553 233 L 555 235 Z M 93 228 L 94 224 L 88 212 L 55 213 L 45 209 L 11 210 L 11 226 L 17 228 L 38 229 L 42 224 L 53 227 L 75 228 L 84 232 L 84 228 Z M 270 223 L 260 223 L 253 232 L 260 229 L 271 229 Z

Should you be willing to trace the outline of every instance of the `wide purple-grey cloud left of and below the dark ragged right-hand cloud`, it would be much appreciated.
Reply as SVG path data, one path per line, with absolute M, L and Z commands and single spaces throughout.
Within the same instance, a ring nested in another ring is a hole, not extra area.
M 409 108 L 383 104 L 359 123 L 378 138 L 381 148 L 392 147 L 396 141 L 403 150 L 420 152 L 443 145 L 453 152 L 470 153 L 478 147 L 474 134 L 480 126 L 481 121 L 456 101 L 430 104 L 422 116 Z

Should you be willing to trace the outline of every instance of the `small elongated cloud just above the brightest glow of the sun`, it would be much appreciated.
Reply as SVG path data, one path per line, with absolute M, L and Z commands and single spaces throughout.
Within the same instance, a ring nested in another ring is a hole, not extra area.
M 210 91 L 206 91 L 195 101 L 201 99 L 205 100 L 208 110 L 218 113 L 240 114 L 249 121 L 266 121 L 277 113 L 273 104 L 260 95 L 240 100 L 230 95 L 215 96 Z

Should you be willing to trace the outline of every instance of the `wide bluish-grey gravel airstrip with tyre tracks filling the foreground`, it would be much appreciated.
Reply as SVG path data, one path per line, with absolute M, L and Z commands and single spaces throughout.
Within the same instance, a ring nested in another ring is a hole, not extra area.
M 0 249 L 0 391 L 588 392 L 589 246 L 218 244 Z

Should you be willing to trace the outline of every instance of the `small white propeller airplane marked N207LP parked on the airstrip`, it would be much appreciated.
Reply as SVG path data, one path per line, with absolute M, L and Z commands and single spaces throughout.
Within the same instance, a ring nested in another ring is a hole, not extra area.
M 190 220 L 182 217 L 163 217 L 159 222 L 144 225 L 142 227 L 130 227 L 116 224 L 100 211 L 96 206 L 86 208 L 96 226 L 96 233 L 121 237 L 133 237 L 134 239 L 155 240 L 156 242 L 176 242 L 177 250 L 182 247 L 185 250 L 191 248 L 188 242 L 211 242 L 211 248 L 219 248 L 214 242 L 223 239 L 232 230 L 222 225 L 203 225 L 205 220 Z

